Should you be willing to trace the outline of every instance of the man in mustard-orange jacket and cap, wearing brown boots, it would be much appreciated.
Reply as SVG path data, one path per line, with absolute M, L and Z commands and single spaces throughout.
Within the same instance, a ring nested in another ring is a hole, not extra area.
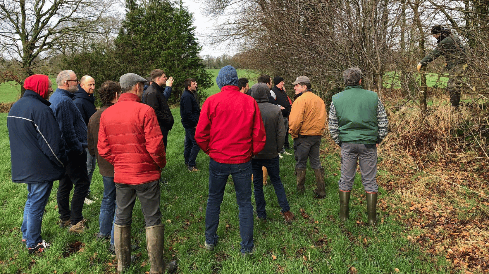
M 289 134 L 294 139 L 295 174 L 297 191 L 304 191 L 306 181 L 307 158 L 316 176 L 317 189 L 314 194 L 323 199 L 324 168 L 319 160 L 319 146 L 326 122 L 326 106 L 323 99 L 311 90 L 311 81 L 307 76 L 299 76 L 292 83 L 295 94 L 299 95 L 292 104 L 289 115 Z

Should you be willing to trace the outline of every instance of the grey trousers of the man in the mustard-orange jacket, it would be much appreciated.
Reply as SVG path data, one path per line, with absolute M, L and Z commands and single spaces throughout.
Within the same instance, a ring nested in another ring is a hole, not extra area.
M 295 168 L 305 169 L 307 158 L 311 163 L 312 169 L 323 168 L 319 159 L 319 146 L 321 145 L 320 135 L 299 135 L 294 139 Z

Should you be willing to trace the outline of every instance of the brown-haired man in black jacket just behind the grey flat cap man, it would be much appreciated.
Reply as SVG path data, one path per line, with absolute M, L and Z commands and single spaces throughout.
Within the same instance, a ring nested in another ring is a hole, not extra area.
M 159 128 L 163 134 L 163 143 L 165 144 L 165 151 L 168 142 L 168 132 L 172 130 L 173 119 L 172 112 L 167 103 L 167 98 L 164 94 L 163 85 L 166 84 L 166 75 L 163 70 L 155 69 L 151 72 L 151 78 L 153 83 L 146 89 L 143 96 L 143 101 L 145 104 L 152 107 L 156 112 L 156 117 L 158 118 Z M 173 82 L 173 80 L 172 80 Z

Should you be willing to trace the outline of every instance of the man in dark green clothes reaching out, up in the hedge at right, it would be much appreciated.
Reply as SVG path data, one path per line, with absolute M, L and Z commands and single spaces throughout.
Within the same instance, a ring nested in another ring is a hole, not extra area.
M 464 45 L 457 36 L 451 34 L 448 29 L 442 26 L 433 26 L 431 34 L 436 38 L 437 46 L 418 63 L 417 69 L 420 71 L 422 67 L 434 59 L 441 55 L 445 56 L 445 68 L 448 70 L 446 88 L 450 94 L 452 107 L 458 107 L 460 104 L 462 77 L 467 68 L 467 56 Z

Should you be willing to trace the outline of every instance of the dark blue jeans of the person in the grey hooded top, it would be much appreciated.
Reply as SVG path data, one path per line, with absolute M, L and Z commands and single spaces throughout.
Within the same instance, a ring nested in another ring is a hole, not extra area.
M 275 189 L 275 195 L 277 195 L 278 204 L 282 208 L 282 213 L 290 210 L 287 196 L 285 196 L 284 185 L 280 179 L 280 164 L 278 159 L 278 156 L 272 159 L 251 159 L 256 214 L 262 219 L 267 218 L 267 212 L 265 211 L 265 195 L 263 194 L 263 166 L 267 168 L 268 176 L 270 176 L 270 181 Z

